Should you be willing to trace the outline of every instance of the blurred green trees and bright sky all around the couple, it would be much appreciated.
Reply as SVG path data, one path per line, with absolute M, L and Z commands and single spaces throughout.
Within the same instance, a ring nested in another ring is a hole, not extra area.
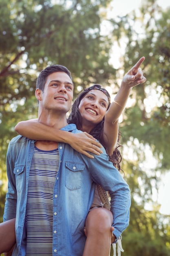
M 75 97 L 99 83 L 114 99 L 124 74 L 145 56 L 147 81 L 133 88 L 119 120 L 132 197 L 122 255 L 169 256 L 169 0 L 0 0 L 0 17 L 0 222 L 7 147 L 15 125 L 37 117 L 39 72 L 64 65 Z

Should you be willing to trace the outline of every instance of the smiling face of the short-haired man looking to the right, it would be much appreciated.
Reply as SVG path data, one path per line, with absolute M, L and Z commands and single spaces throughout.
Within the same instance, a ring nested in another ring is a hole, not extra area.
M 41 103 L 46 110 L 66 113 L 71 108 L 73 100 L 73 82 L 64 72 L 50 74 L 41 94 Z

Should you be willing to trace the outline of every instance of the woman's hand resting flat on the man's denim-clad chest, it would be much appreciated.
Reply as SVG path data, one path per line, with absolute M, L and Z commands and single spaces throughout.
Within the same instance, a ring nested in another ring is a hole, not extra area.
M 91 155 L 90 153 L 93 153 L 95 155 L 100 155 L 103 153 L 100 149 L 102 148 L 101 144 L 97 142 L 96 139 L 87 132 L 70 134 L 71 135 L 68 144 L 79 153 L 86 155 L 89 158 L 94 158 L 94 156 Z

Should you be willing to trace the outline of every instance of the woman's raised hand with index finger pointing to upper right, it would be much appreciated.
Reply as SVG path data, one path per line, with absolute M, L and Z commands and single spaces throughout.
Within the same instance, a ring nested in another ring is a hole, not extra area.
M 137 63 L 124 76 L 122 81 L 123 83 L 126 83 L 126 85 L 129 85 L 130 87 L 134 87 L 139 83 L 144 83 L 146 81 L 146 78 L 140 68 L 144 60 L 145 57 L 141 57 L 139 61 L 137 61 Z

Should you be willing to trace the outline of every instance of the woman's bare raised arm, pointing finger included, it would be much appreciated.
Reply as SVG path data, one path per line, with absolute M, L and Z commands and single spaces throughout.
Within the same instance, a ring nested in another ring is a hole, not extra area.
M 108 155 L 111 155 L 117 144 L 119 131 L 119 117 L 123 112 L 132 88 L 139 83 L 144 83 L 146 78 L 139 68 L 145 57 L 139 61 L 124 76 L 119 91 L 105 114 L 103 140 L 107 147 Z

